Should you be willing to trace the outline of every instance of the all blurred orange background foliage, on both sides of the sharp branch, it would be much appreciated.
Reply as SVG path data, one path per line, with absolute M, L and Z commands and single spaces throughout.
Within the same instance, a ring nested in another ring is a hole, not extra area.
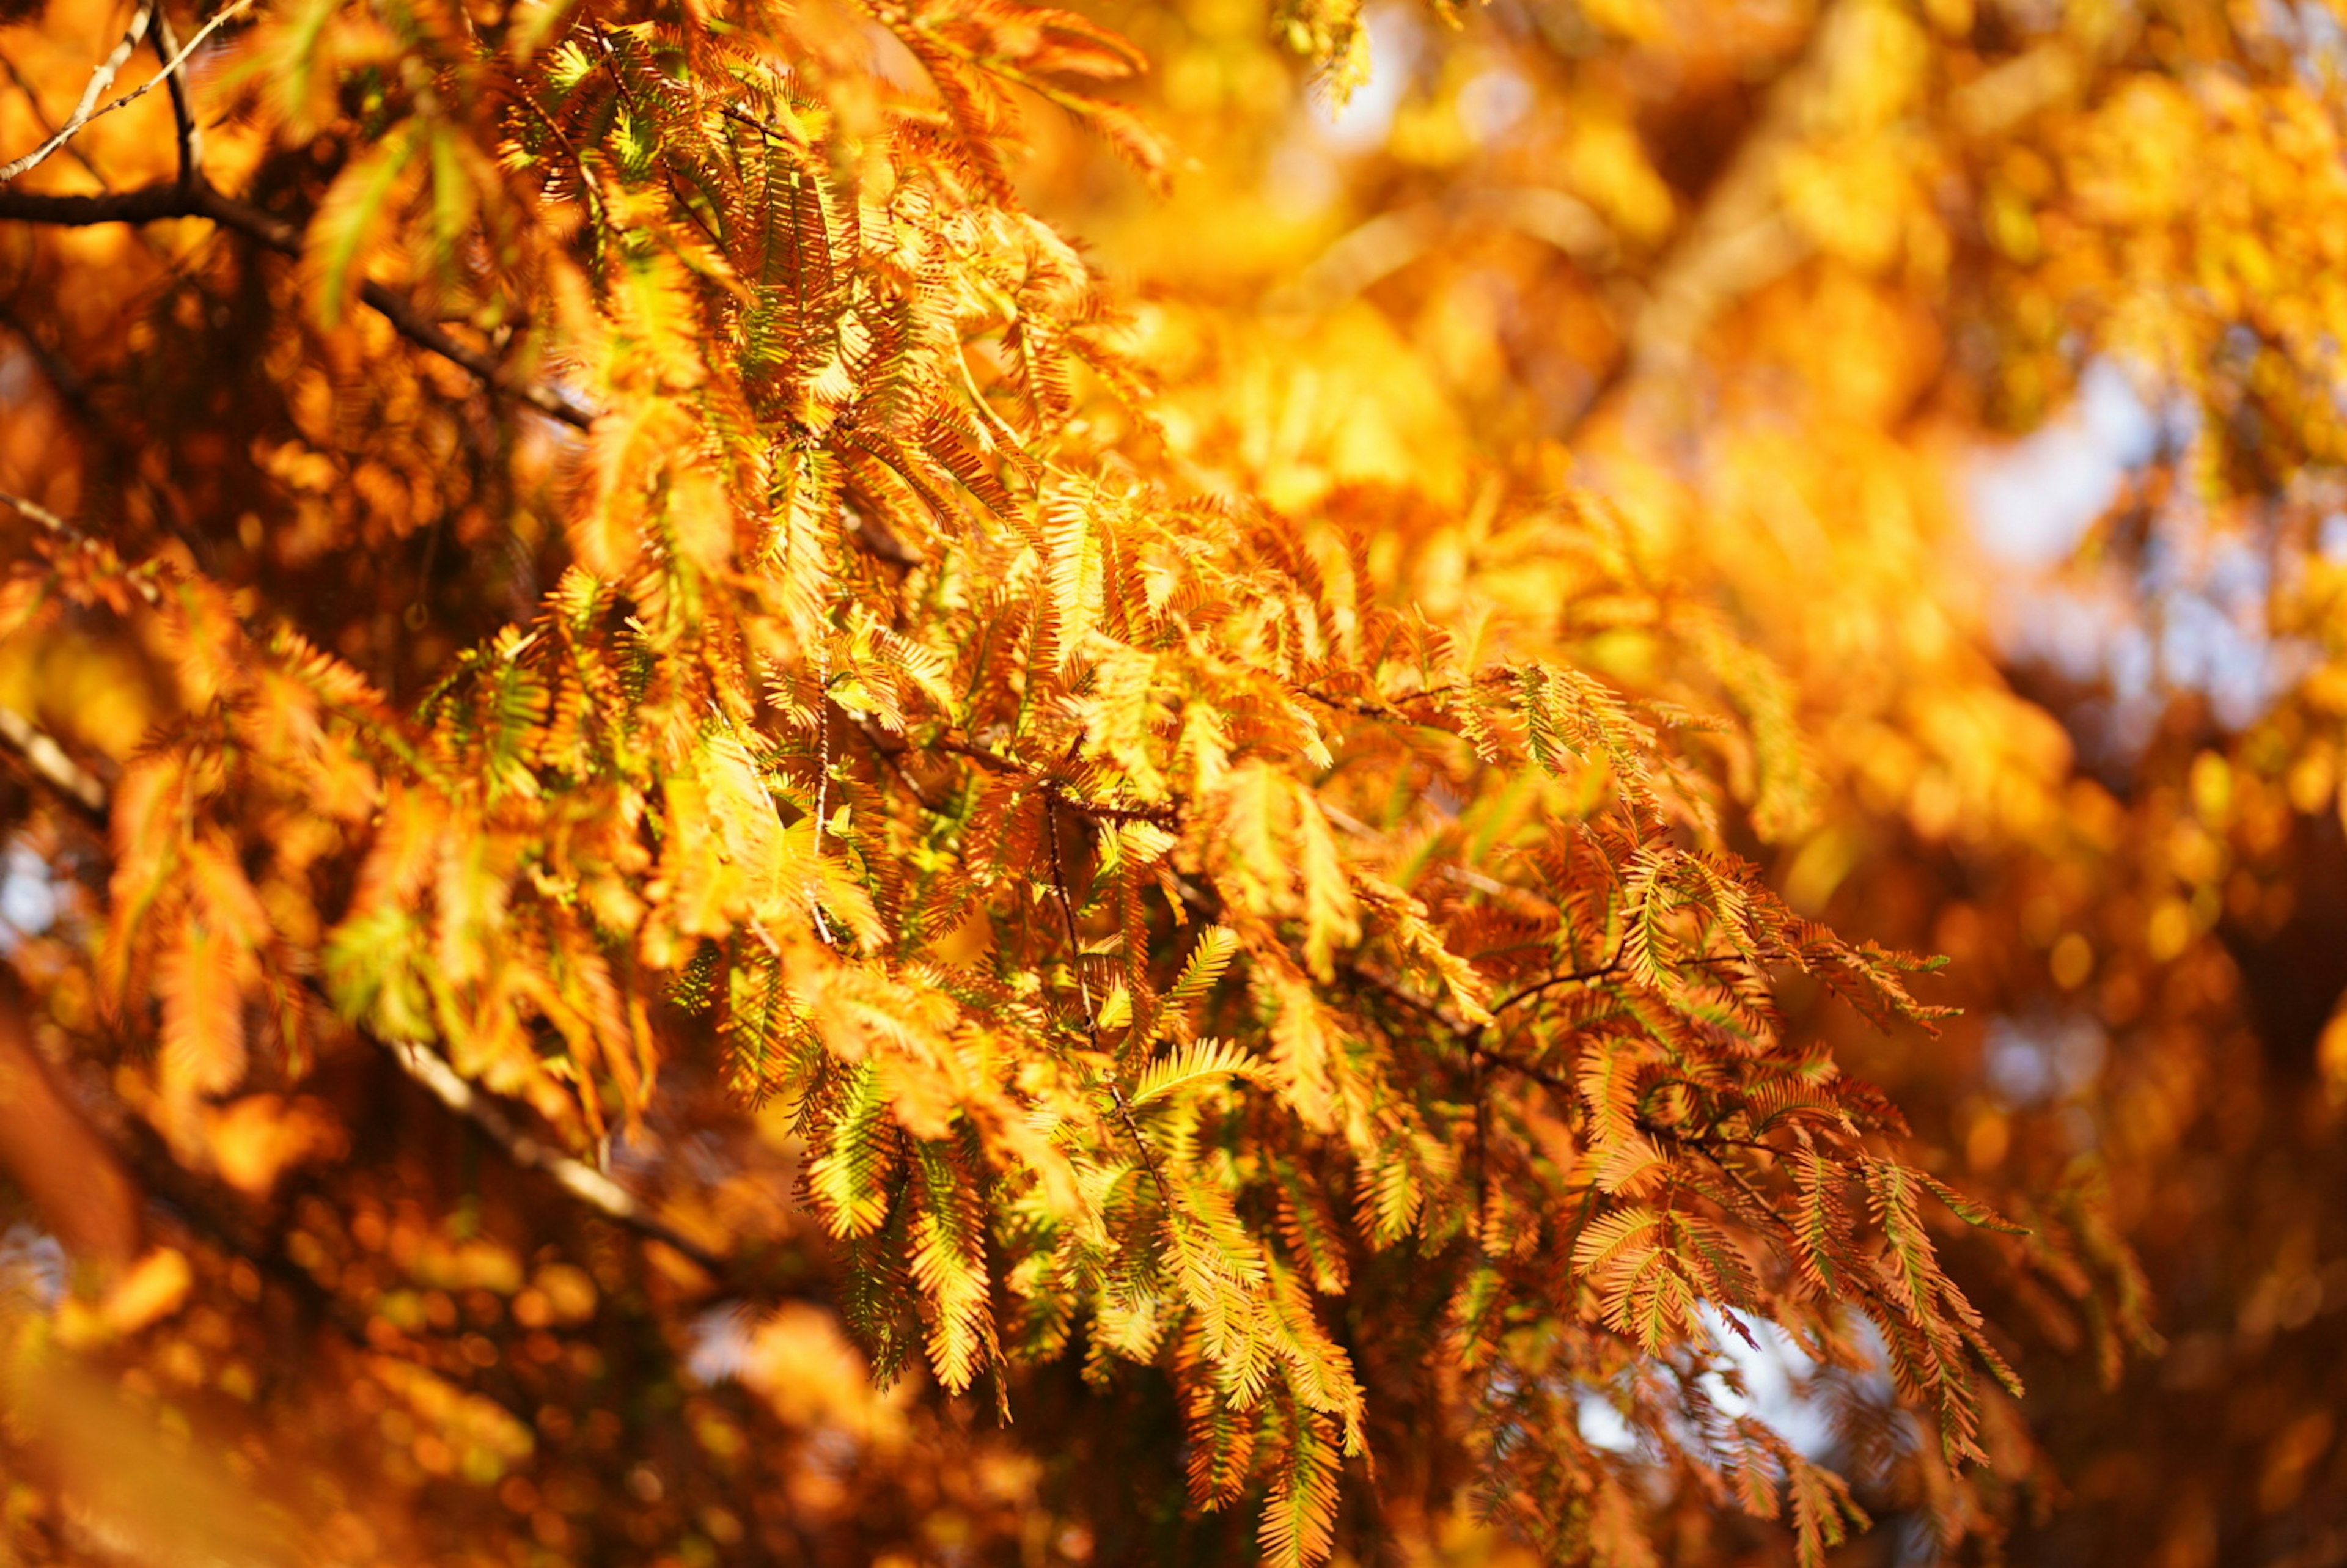
M 63 117 L 117 12 L 52 0 L 0 33 L 0 150 Z M 1582 667 L 1631 688 L 1671 678 L 1657 615 L 1767 655 L 1739 707 L 1781 709 L 1812 777 L 1781 831 L 1739 847 L 1838 930 L 1948 953 L 1929 1000 L 1962 1007 L 1922 1042 L 1793 988 L 1795 1026 L 1885 1084 L 1946 1176 L 2068 1223 L 2150 1300 L 2164 1343 L 2122 1359 L 2084 1289 L 1983 1286 L 2030 1394 L 1993 1446 L 2004 1526 L 1955 1549 L 2347 1561 L 2333 12 L 1087 14 L 1148 56 L 1122 92 L 1174 171 L 1159 195 L 1023 106 L 1019 190 L 1089 246 L 1157 387 L 1145 413 L 1091 397 L 1084 439 L 1110 462 L 1162 444 L 1209 488 L 1361 530 L 1439 620 L 1561 613 Z M 866 42 L 922 92 L 911 56 Z M 199 80 L 249 66 L 223 49 Z M 169 124 L 153 94 L 92 124 L 56 178 L 167 178 Z M 366 103 L 322 103 L 319 124 L 324 167 L 364 146 Z M 235 122 L 207 160 L 228 190 L 324 178 Z M 559 444 L 479 415 L 451 366 L 390 354 L 376 317 L 322 324 L 289 282 L 225 263 L 174 284 L 197 230 L 0 225 L 0 484 L 129 519 L 146 545 L 192 538 L 207 570 L 413 697 L 559 573 Z M 115 441 L 124 411 L 157 406 L 178 441 Z M 1542 533 L 1565 486 L 1610 509 L 1603 570 Z M 1601 592 L 1622 577 L 1648 592 Z M 0 648 L 0 699 L 122 761 L 164 709 L 167 657 L 96 624 L 52 634 Z M 1730 770 L 1760 765 L 1720 744 Z M 35 1047 L 94 1007 L 68 955 L 99 918 L 38 796 L 0 782 L 0 941 L 56 1016 Z M 14 1549 L 199 1540 L 209 1561 L 272 1561 L 296 1519 L 319 1561 L 1249 1549 L 1244 1519 L 1134 1519 L 1105 1495 L 1174 1472 L 1174 1411 L 1105 1406 L 1073 1366 L 1035 1376 L 1012 1427 L 918 1371 L 875 1394 L 817 1265 L 793 1263 L 821 1249 L 782 1143 L 690 1068 L 678 1096 L 645 1136 L 681 1160 L 723 1145 L 725 1176 L 676 1199 L 765 1237 L 777 1277 L 805 1268 L 807 1300 L 713 1296 L 690 1258 L 516 1181 L 371 1056 L 218 1113 L 216 1181 L 263 1202 L 275 1249 L 207 1235 L 199 1216 L 235 1204 L 174 1197 L 157 1134 L 115 1129 L 195 1237 L 174 1253 L 195 1277 L 117 1286 L 70 1329 L 87 1373 L 12 1390 Z M 9 1310 L 49 1312 L 66 1265 L 31 1216 L 5 1258 Z M 296 1319 L 326 1331 L 293 1350 Z M 298 1467 L 261 1474 L 214 1434 L 282 1380 L 343 1397 L 303 1404 Z M 1922 1472 L 1838 1458 L 1878 1528 L 1835 1561 L 1934 1561 Z M 1521 1559 L 1467 1509 L 1380 1528 L 1342 1549 Z

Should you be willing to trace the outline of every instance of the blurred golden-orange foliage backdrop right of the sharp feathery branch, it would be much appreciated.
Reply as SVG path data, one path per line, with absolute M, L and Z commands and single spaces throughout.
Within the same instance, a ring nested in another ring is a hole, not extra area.
M 1791 678 L 1821 791 L 1777 883 L 1955 960 L 1946 1040 L 1845 1030 L 1842 1059 L 1950 1171 L 2105 1185 L 2143 1258 L 2166 1350 L 2124 1378 L 2103 1324 L 2011 1303 L 2054 1354 L 2004 1552 L 2340 1561 L 2338 19 L 1460 21 L 1371 9 L 1338 108 L 1279 16 L 1120 14 L 1197 164 L 1162 204 L 1094 195 L 1080 148 L 1035 178 L 1150 300 L 1169 439 L 1291 505 L 1453 465 L 1446 498 L 1612 500 Z M 1570 603 L 1570 568 L 1462 514 L 1413 540 L 1420 594 Z M 1603 617 L 1582 655 L 1643 676 Z

